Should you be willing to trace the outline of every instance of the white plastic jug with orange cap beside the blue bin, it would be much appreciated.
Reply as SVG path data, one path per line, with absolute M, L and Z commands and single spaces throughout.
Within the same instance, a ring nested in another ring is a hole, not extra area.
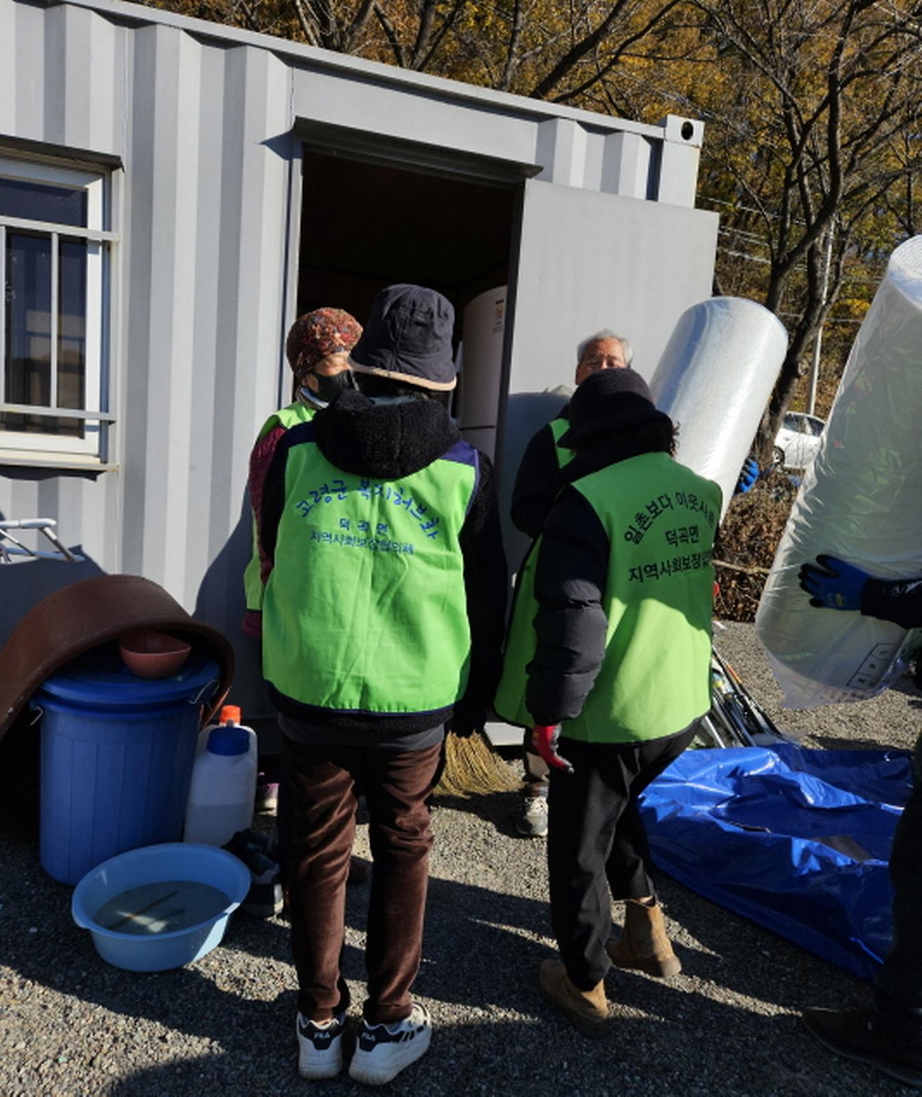
M 221 709 L 219 723 L 198 735 L 185 808 L 185 841 L 224 846 L 253 822 L 257 736 L 240 723 L 236 705 Z

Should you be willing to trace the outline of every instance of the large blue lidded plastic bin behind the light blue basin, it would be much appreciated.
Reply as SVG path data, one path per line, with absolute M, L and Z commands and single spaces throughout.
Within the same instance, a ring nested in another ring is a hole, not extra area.
M 202 703 L 217 664 L 193 653 L 171 678 L 136 678 L 110 645 L 33 699 L 42 717 L 39 857 L 75 884 L 102 861 L 182 838 Z

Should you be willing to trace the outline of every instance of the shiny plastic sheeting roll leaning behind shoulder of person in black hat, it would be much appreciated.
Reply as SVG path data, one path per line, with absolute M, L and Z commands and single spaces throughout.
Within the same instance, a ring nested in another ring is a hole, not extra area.
M 716 480 L 724 511 L 787 350 L 778 318 L 742 297 L 686 308 L 662 352 L 650 392 L 679 425 L 683 465 Z

